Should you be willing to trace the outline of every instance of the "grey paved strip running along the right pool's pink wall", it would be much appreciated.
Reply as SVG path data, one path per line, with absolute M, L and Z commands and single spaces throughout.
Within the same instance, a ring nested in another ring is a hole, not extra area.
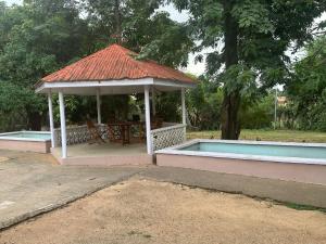
M 262 179 L 175 167 L 152 167 L 140 175 L 160 181 L 239 193 L 326 209 L 326 185 Z

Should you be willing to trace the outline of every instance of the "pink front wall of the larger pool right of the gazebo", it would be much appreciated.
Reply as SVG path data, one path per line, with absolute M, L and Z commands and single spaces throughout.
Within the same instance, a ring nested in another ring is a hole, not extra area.
M 159 166 L 190 168 L 326 185 L 326 165 L 156 154 Z

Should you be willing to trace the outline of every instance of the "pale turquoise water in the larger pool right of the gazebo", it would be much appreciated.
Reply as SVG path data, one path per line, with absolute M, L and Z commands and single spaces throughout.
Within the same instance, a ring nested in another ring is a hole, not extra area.
M 326 149 L 323 146 L 296 146 L 274 144 L 246 144 L 224 142 L 198 142 L 179 149 L 181 151 L 231 153 L 278 157 L 301 157 L 326 159 Z

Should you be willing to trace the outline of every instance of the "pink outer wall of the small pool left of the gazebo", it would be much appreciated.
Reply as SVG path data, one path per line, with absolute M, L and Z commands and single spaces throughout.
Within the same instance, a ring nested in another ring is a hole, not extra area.
M 51 141 L 16 141 L 16 140 L 0 140 L 0 149 L 17 150 L 36 153 L 50 153 Z

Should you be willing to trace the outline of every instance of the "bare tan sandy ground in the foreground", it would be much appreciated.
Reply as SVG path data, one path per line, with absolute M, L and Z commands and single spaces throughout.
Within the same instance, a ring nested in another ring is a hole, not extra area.
M 1 244 L 326 243 L 326 215 L 134 178 L 0 233 Z

